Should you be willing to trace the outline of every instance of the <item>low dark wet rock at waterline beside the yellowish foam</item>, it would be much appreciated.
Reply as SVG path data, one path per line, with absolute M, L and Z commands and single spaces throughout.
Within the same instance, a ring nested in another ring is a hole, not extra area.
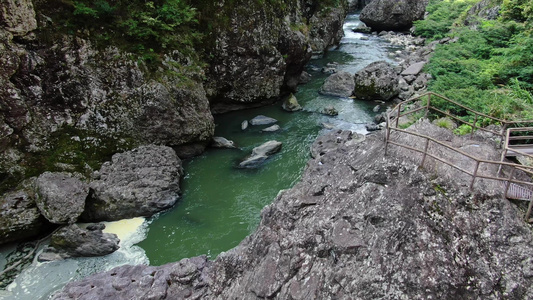
M 50 245 L 39 255 L 39 261 L 103 256 L 115 252 L 119 249 L 120 240 L 114 233 L 103 233 L 104 228 L 95 226 L 90 230 L 71 224 L 59 229 L 52 234 Z

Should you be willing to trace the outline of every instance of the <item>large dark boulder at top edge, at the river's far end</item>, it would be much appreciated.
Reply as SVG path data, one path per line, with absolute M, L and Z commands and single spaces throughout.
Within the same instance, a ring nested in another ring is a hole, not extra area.
M 407 30 L 424 18 L 428 0 L 374 0 L 361 11 L 361 21 L 373 30 Z

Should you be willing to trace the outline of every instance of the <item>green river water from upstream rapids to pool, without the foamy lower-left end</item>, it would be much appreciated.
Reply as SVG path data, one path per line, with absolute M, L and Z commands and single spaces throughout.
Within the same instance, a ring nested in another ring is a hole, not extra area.
M 358 22 L 357 16 L 349 16 L 345 27 L 355 27 Z M 233 140 L 239 149 L 210 149 L 185 162 L 182 198 L 174 209 L 150 220 L 148 236 L 139 244 L 150 264 L 161 265 L 202 254 L 215 258 L 236 246 L 257 227 L 261 209 L 280 190 L 290 188 L 298 180 L 310 158 L 311 143 L 325 131 L 322 123 L 366 132 L 364 124 L 372 121 L 375 114 L 372 108 L 377 103 L 318 94 L 328 76 L 319 69 L 328 62 L 337 62 L 338 69 L 355 73 L 372 61 L 388 60 L 386 43 L 378 37 L 360 40 L 361 36 L 346 30 L 338 49 L 311 61 L 307 71 L 313 80 L 301 85 L 295 94 L 303 111 L 289 113 L 278 103 L 215 117 L 215 135 Z M 329 106 L 335 107 L 339 115 L 320 113 Z M 281 131 L 262 133 L 261 129 L 267 126 L 241 130 L 242 121 L 257 115 L 277 119 Z M 236 167 L 254 147 L 268 140 L 282 142 L 281 152 L 258 169 Z

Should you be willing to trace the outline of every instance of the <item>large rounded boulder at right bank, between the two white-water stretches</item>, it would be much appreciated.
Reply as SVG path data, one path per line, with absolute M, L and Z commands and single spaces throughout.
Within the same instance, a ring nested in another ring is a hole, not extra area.
M 385 61 L 369 64 L 354 76 L 354 96 L 362 100 L 391 100 L 400 93 L 399 75 Z

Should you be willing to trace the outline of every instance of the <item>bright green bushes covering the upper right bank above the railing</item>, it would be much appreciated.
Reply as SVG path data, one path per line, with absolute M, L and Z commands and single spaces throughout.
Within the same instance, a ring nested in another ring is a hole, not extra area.
M 491 5 L 502 4 L 498 19 L 477 20 L 475 27 L 462 25 L 476 2 L 430 1 L 429 17 L 416 22 L 416 34 L 429 40 L 457 40 L 437 47 L 426 66 L 433 76 L 428 88 L 496 118 L 533 119 L 533 0 L 492 1 Z M 473 116 L 457 106 L 433 104 L 473 122 Z

